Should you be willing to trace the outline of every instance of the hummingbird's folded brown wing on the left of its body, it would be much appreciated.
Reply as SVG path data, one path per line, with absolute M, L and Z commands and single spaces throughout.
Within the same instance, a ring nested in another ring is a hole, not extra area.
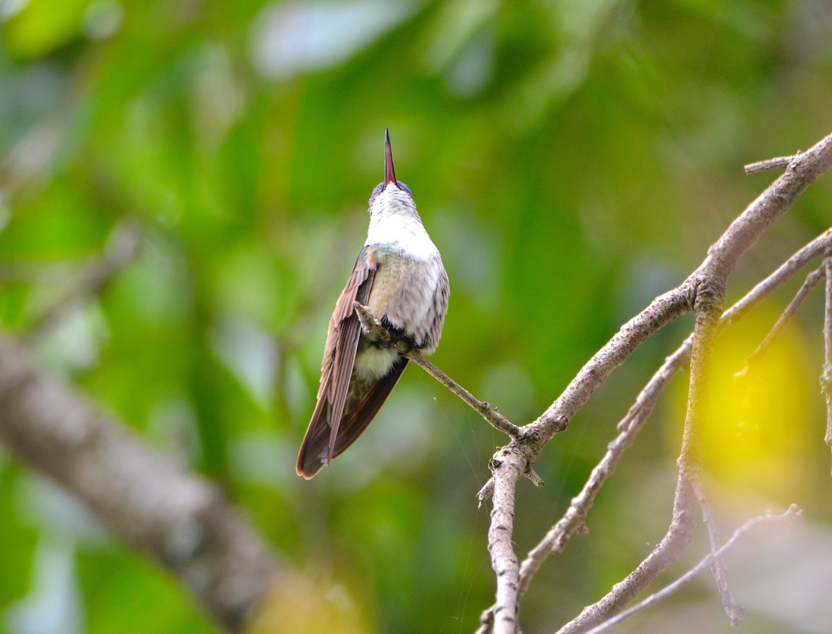
M 370 260 L 369 250 L 364 247 L 358 260 L 355 260 L 353 272 L 335 303 L 332 318 L 329 319 L 324 363 L 321 364 L 318 403 L 315 405 L 310 426 L 306 429 L 304 442 L 300 445 L 298 462 L 295 465 L 298 475 L 305 478 L 311 478 L 323 466 L 321 453 L 324 448 L 329 448 L 324 458 L 326 462 L 334 458 L 336 438 L 344 414 L 349 379 L 353 374 L 355 353 L 361 334 L 361 323 L 358 315 L 355 315 L 353 302 L 358 300 L 362 304 L 367 303 L 375 275 L 375 263 L 373 261 L 371 264 Z

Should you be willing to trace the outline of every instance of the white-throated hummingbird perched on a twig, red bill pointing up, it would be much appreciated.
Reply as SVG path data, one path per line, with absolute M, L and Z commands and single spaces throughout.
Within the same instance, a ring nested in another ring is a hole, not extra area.
M 369 198 L 369 230 L 335 303 L 321 364 L 318 402 L 296 470 L 310 479 L 355 442 L 379 413 L 408 359 L 364 329 L 359 301 L 411 349 L 431 354 L 448 312 L 448 275 L 408 186 L 396 180 L 384 132 L 384 181 Z

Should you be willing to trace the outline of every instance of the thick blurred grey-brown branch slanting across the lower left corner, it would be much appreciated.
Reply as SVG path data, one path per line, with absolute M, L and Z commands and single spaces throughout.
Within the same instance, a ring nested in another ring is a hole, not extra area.
M 0 441 L 168 568 L 229 632 L 244 632 L 284 577 L 218 488 L 146 448 L 2 338 Z

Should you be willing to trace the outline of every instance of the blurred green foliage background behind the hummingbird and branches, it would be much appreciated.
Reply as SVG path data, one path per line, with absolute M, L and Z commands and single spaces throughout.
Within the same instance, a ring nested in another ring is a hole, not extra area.
M 451 280 L 433 360 L 526 423 L 773 178 L 745 163 L 830 131 L 830 29 L 828 0 L 0 0 L 0 327 L 214 478 L 368 632 L 471 632 L 493 598 L 474 496 L 500 434 L 412 367 L 354 448 L 311 482 L 294 473 L 384 128 Z M 826 176 L 745 257 L 730 299 L 830 225 L 830 207 Z M 136 232 L 109 284 L 44 326 Z M 723 534 L 765 508 L 806 511 L 792 537 L 729 561 L 748 632 L 832 620 L 820 295 L 733 379 L 799 284 L 717 350 L 706 467 Z M 519 484 L 521 557 L 690 328 L 642 346 L 550 443 L 545 488 Z M 589 535 L 537 577 L 524 631 L 557 629 L 664 534 L 685 399 L 680 376 Z M 216 632 L 7 456 L 0 518 L 0 631 Z M 671 629 L 729 630 L 707 575 L 622 631 Z

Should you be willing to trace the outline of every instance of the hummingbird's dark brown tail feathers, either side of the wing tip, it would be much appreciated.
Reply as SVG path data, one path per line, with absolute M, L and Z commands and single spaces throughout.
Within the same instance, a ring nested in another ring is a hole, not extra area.
M 379 413 L 379 409 L 387 400 L 395 384 L 399 382 L 399 377 L 407 364 L 407 359 L 396 361 L 389 373 L 379 379 L 373 387 L 367 390 L 359 402 L 344 414 L 330 460 L 344 453 L 344 450 L 364 432 L 367 425 Z M 298 463 L 295 467 L 298 475 L 302 475 L 307 480 L 312 478 L 324 467 L 324 463 L 327 462 L 327 453 L 329 453 L 329 423 L 326 419 L 326 397 L 324 396 L 314 409 L 304 442 L 300 445 Z

